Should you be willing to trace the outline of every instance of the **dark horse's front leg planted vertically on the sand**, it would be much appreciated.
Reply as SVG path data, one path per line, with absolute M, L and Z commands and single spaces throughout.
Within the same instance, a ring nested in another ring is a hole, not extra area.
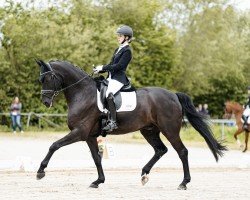
M 97 172 L 98 172 L 98 179 L 96 181 L 94 181 L 93 183 L 91 183 L 91 185 L 89 187 L 92 188 L 98 188 L 100 183 L 104 183 L 105 181 L 105 176 L 103 173 L 103 169 L 102 169 L 102 157 L 99 153 L 99 149 L 98 149 L 98 144 L 97 144 L 97 140 L 95 137 L 89 137 L 86 140 L 89 149 L 91 151 L 92 157 L 94 159 L 96 168 L 97 168 Z

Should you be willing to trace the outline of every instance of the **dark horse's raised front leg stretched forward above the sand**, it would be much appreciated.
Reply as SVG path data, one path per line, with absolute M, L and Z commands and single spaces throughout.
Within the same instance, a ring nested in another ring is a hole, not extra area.
M 46 157 L 44 158 L 44 160 L 41 162 L 40 168 L 37 171 L 37 179 L 41 179 L 45 176 L 45 172 L 44 169 L 48 166 L 48 163 L 50 161 L 50 158 L 52 157 L 52 155 L 54 154 L 54 152 L 56 150 L 58 150 L 59 148 L 78 142 L 81 140 L 81 130 L 80 129 L 74 129 L 72 130 L 68 135 L 66 135 L 65 137 L 63 137 L 62 139 L 54 142 L 50 148 L 49 148 L 49 152 L 47 153 Z

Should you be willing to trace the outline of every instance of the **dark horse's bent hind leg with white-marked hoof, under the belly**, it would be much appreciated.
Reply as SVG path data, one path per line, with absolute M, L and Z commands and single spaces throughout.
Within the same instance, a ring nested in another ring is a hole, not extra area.
M 160 139 L 160 131 L 157 127 L 148 127 L 141 129 L 141 134 L 148 141 L 148 143 L 154 148 L 155 154 L 150 161 L 142 168 L 142 184 L 146 184 L 148 181 L 147 174 L 154 166 L 154 164 L 168 151 L 167 147 Z

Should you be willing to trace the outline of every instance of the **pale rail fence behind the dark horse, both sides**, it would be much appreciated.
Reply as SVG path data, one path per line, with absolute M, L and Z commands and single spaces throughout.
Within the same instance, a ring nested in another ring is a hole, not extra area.
M 53 126 L 53 127 L 59 127 L 58 124 L 54 123 L 53 121 L 49 120 L 46 117 L 67 117 L 67 114 L 48 114 L 48 113 L 34 113 L 34 112 L 29 112 L 29 113 L 21 113 L 22 116 L 27 117 L 27 123 L 26 123 L 26 127 L 30 126 L 30 120 L 32 115 L 37 117 L 39 120 L 39 127 L 40 127 L 40 120 L 43 120 L 45 122 L 47 122 L 49 125 Z M 10 117 L 10 113 L 0 113 L 0 116 L 9 116 Z M 210 119 L 212 124 L 219 124 L 221 125 L 221 138 L 224 139 L 225 138 L 225 125 L 235 125 L 235 120 L 233 119 Z M 185 119 L 185 122 L 188 123 L 187 119 Z

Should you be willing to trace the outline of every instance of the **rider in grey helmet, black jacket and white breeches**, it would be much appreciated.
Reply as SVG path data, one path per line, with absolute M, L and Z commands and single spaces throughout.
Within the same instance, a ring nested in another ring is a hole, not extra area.
M 116 107 L 114 103 L 114 95 L 126 84 L 129 80 L 125 74 L 127 66 L 132 59 L 132 52 L 129 43 L 133 37 L 133 30 L 127 25 L 120 26 L 117 31 L 117 39 L 119 47 L 115 50 L 109 64 L 95 67 L 95 73 L 108 72 L 109 81 L 106 98 L 110 113 L 109 121 L 103 128 L 104 131 L 112 131 L 117 129 L 116 123 Z

